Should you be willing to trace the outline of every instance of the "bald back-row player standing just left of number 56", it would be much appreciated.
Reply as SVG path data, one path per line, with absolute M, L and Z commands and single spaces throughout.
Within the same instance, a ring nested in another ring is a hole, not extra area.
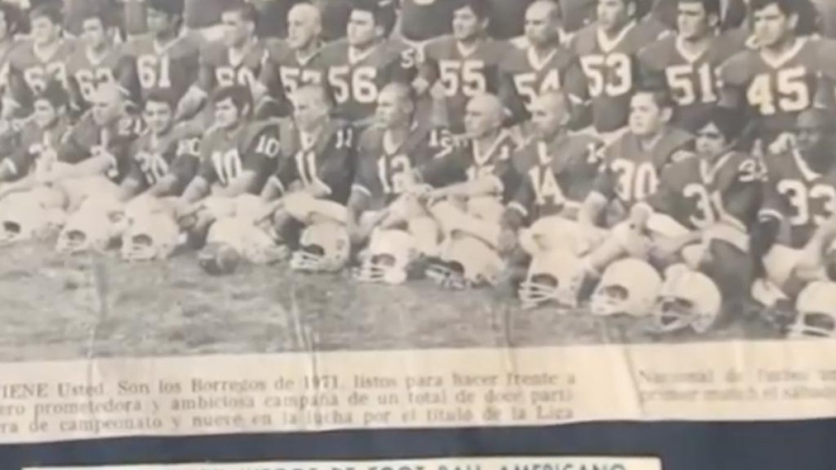
M 268 42 L 268 63 L 263 67 L 261 83 L 266 87 L 259 108 L 285 115 L 290 112 L 289 97 L 299 85 L 322 84 L 320 50 L 322 14 L 310 3 L 298 3 L 288 12 L 288 38 Z

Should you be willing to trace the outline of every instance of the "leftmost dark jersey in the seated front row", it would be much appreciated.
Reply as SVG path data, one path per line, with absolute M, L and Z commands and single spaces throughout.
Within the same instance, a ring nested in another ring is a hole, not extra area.
M 31 122 L 21 130 L 17 151 L 3 161 L 20 179 L 33 172 L 45 172 L 58 161 L 58 149 L 69 132 L 69 120 L 59 120 L 49 129 L 41 129 Z

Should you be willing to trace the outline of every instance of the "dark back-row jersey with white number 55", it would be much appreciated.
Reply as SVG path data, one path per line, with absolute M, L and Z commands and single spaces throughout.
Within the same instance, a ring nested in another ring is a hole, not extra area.
M 467 100 L 482 93 L 504 94 L 502 61 L 512 50 L 511 44 L 490 38 L 480 41 L 472 50 L 461 49 L 452 36 L 426 44 L 421 78 L 428 84 L 441 83 L 452 132 L 463 130 Z

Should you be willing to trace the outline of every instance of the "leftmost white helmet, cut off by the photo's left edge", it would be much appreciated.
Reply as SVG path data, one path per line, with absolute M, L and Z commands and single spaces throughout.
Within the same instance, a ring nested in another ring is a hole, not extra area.
M 48 236 L 66 217 L 64 194 L 47 187 L 9 194 L 0 202 L 0 245 Z

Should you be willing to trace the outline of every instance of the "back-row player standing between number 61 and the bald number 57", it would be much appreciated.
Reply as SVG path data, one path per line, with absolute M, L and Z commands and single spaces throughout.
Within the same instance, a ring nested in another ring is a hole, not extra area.
M 208 43 L 201 50 L 201 69 L 195 86 L 189 90 L 193 99 L 205 100 L 212 90 L 239 84 L 253 92 L 261 75 L 267 49 L 255 36 L 256 11 L 249 3 L 224 5 L 221 13 L 223 38 Z

